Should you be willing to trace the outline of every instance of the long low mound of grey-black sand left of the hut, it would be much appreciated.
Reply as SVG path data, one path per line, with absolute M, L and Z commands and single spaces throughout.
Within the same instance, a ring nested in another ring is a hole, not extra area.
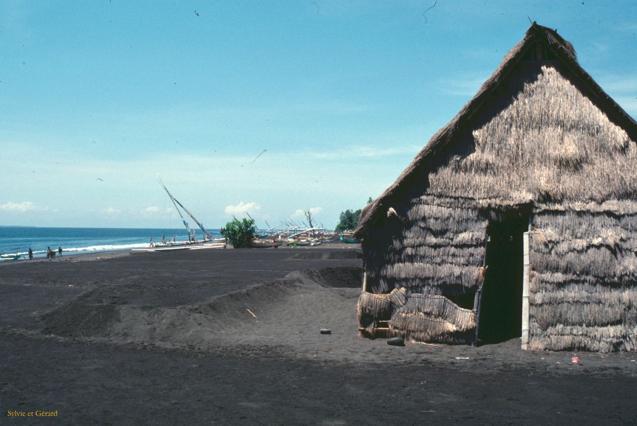
M 323 350 L 319 330 L 324 327 L 355 339 L 360 277 L 361 268 L 292 272 L 283 280 L 176 306 L 140 304 L 149 291 L 142 286 L 102 286 L 41 319 L 48 334 L 71 338 L 167 349 L 222 349 L 243 355 L 294 354 L 302 342 Z M 354 282 L 356 288 L 337 288 L 354 286 Z M 167 291 L 167 297 L 171 293 Z M 156 295 L 153 300 L 161 302 Z

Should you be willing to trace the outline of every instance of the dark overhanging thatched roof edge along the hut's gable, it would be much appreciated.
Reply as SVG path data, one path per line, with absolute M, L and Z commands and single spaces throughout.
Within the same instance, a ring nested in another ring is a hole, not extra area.
M 447 126 L 440 129 L 438 133 L 429 140 L 429 143 L 427 143 L 422 151 L 413 159 L 412 163 L 401 173 L 398 179 L 396 179 L 396 182 L 373 203 L 370 203 L 362 210 L 355 235 L 361 237 L 364 234 L 366 226 L 372 223 L 379 214 L 384 214 L 384 212 L 391 207 L 390 203 L 399 193 L 400 189 L 409 186 L 410 182 L 412 182 L 410 178 L 413 177 L 416 172 L 422 171 L 423 167 L 426 167 L 426 159 L 436 156 L 437 152 L 440 152 L 443 147 L 454 140 L 454 136 L 458 133 L 459 129 L 463 128 L 481 107 L 488 105 L 488 99 L 493 92 L 503 84 L 505 78 L 510 75 L 513 68 L 527 52 L 529 52 L 529 48 L 538 45 L 538 43 L 546 47 L 552 56 L 561 62 L 563 66 L 562 69 L 570 73 L 569 77 L 575 78 L 582 87 L 585 87 L 588 98 L 611 122 L 624 129 L 632 140 L 637 140 L 637 123 L 582 69 L 576 59 L 575 50 L 571 43 L 559 36 L 557 31 L 539 26 L 533 22 L 522 41 L 505 55 L 503 62 L 482 87 L 480 87 L 480 90 L 473 99 L 462 108 Z

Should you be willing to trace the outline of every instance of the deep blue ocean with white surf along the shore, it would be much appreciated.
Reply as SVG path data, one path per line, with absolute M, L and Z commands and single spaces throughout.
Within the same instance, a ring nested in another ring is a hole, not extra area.
M 218 229 L 208 230 L 214 238 L 222 238 Z M 123 250 L 146 247 L 153 242 L 175 237 L 176 241 L 188 240 L 185 228 L 38 228 L 34 226 L 0 226 L 0 254 L 27 256 L 29 247 L 34 257 L 46 257 L 47 247 L 64 253 L 94 253 L 96 251 Z M 197 230 L 195 237 L 203 236 Z M 199 238 L 197 238 L 199 239 Z

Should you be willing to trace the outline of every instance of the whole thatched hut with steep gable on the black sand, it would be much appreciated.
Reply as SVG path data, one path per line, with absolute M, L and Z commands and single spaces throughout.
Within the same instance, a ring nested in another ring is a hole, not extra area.
M 362 211 L 362 336 L 637 349 L 637 123 L 535 23 Z

